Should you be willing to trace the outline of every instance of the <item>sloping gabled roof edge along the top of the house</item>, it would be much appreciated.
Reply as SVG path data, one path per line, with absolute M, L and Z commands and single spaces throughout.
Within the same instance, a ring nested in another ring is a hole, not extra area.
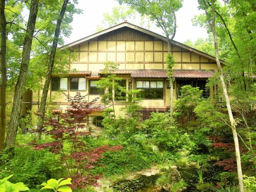
M 160 34 L 158 34 L 158 33 L 153 32 L 153 31 L 150 31 L 150 30 L 141 28 L 141 27 L 139 27 L 139 26 L 133 25 L 133 24 L 131 24 L 131 23 L 123 22 L 123 23 L 120 23 L 120 24 L 115 25 L 115 26 L 113 26 L 113 27 L 110 27 L 110 28 L 108 28 L 108 29 L 105 29 L 105 30 L 103 30 L 103 31 L 94 33 L 94 34 L 89 35 L 89 36 L 87 36 L 87 37 L 84 37 L 84 38 L 78 39 L 78 40 L 76 40 L 76 41 L 74 41 L 74 42 L 71 42 L 70 44 L 67 44 L 67 45 L 65 45 L 65 46 L 60 47 L 60 49 L 65 49 L 65 48 L 69 48 L 69 47 L 78 45 L 78 44 L 80 44 L 81 42 L 84 42 L 84 41 L 93 39 L 93 38 L 95 38 L 95 37 L 98 37 L 98 36 L 100 36 L 100 35 L 109 33 L 109 32 L 111 32 L 111 31 L 114 31 L 114 30 L 117 30 L 117 29 L 120 29 L 120 28 L 123 28 L 123 27 L 128 27 L 128 28 L 131 28 L 131 29 L 140 31 L 140 32 L 142 32 L 142 33 L 151 35 L 151 36 L 153 36 L 153 37 L 159 38 L 159 39 L 161 39 L 161 40 L 167 41 L 167 38 L 166 38 L 165 36 L 162 36 L 162 35 L 160 35 Z M 202 51 L 199 51 L 199 50 L 197 50 L 197 49 L 195 49 L 195 48 L 192 48 L 192 47 L 189 47 L 189 46 L 187 46 L 187 45 L 184 45 L 184 44 L 182 44 L 181 42 L 178 42 L 178 41 L 173 40 L 173 41 L 172 41 L 172 44 L 173 44 L 173 45 L 176 45 L 176 46 L 179 46 L 179 47 L 181 47 L 181 48 L 183 48 L 183 49 L 187 49 L 187 50 L 189 50 L 189 51 L 191 51 L 191 52 L 197 53 L 197 54 L 199 54 L 199 55 L 202 55 L 202 56 L 204 56 L 204 57 L 207 57 L 207 58 L 209 58 L 209 59 L 216 60 L 215 56 L 209 55 L 209 54 L 204 53 L 204 52 L 202 52 Z M 221 62 L 221 63 L 224 63 L 225 61 L 220 59 L 220 62 Z

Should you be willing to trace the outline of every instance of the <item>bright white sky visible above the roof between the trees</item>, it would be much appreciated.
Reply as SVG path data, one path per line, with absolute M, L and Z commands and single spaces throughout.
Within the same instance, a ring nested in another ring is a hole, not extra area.
M 65 44 L 95 33 L 97 25 L 102 25 L 103 14 L 111 13 L 113 7 L 119 6 L 115 0 L 78 0 L 78 2 L 77 8 L 82 9 L 83 13 L 74 15 L 71 24 L 73 31 L 70 37 L 65 38 Z M 183 1 L 183 7 L 176 13 L 177 32 L 175 40 L 184 42 L 191 39 L 195 42 L 199 37 L 206 38 L 208 36 L 204 28 L 192 25 L 191 19 L 200 13 L 202 11 L 198 10 L 197 0 Z M 130 23 L 132 22 L 130 21 Z M 161 30 L 158 29 L 155 32 L 161 33 Z

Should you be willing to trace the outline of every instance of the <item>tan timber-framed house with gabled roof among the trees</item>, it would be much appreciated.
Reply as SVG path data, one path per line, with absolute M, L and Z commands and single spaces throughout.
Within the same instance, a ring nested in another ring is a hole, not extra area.
M 165 70 L 167 43 L 164 36 L 124 22 L 63 48 L 77 52 L 78 59 L 71 62 L 68 77 L 52 77 L 49 97 L 50 104 L 56 108 L 65 110 L 69 105 L 63 94 L 56 96 L 59 89 L 70 95 L 76 92 L 88 94 L 88 100 L 99 97 L 102 91 L 97 89 L 95 81 L 100 79 L 106 61 L 120 64 L 115 74 L 122 77 L 120 83 L 123 87 L 143 90 L 141 105 L 144 116 L 153 111 L 165 112 L 169 108 L 170 88 Z M 177 41 L 172 42 L 172 55 L 175 60 L 174 100 L 179 97 L 180 88 L 185 84 L 199 87 L 205 98 L 212 99 L 218 88 L 205 90 L 205 84 L 207 78 L 218 70 L 215 57 Z M 221 63 L 224 61 L 221 60 Z M 32 94 L 33 110 L 39 107 L 40 94 L 41 91 Z M 114 104 L 116 115 L 121 115 L 124 102 L 115 100 Z M 94 113 L 89 117 L 89 124 L 100 125 L 101 119 L 101 112 Z

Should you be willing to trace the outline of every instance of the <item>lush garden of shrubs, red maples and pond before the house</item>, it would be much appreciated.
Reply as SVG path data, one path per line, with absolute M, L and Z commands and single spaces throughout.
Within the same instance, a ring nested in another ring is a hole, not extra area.
M 80 93 L 66 95 L 71 107 L 59 120 L 48 113 L 41 130 L 19 130 L 13 150 L 2 153 L 0 189 L 8 185 L 16 187 L 9 191 L 239 191 L 227 114 L 201 92 L 182 87 L 174 113 L 178 117 L 192 110 L 199 123 L 181 128 L 168 113 L 152 113 L 139 123 L 139 99 L 134 99 L 127 102 L 123 117 L 105 110 L 97 135 L 83 131 L 83 117 L 97 110 L 96 100 L 88 102 Z M 254 121 L 248 123 L 252 126 Z M 246 134 L 243 129 L 239 133 Z M 240 142 L 246 191 L 255 191 L 253 142 Z

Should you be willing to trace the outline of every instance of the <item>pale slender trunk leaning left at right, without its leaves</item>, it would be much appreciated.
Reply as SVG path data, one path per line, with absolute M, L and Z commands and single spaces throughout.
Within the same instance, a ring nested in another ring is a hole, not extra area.
M 242 174 L 242 166 L 241 166 L 241 158 L 240 158 L 240 150 L 239 150 L 239 141 L 238 141 L 238 134 L 236 130 L 236 123 L 233 118 L 233 114 L 231 111 L 231 106 L 230 106 L 230 100 L 229 96 L 227 93 L 226 89 L 226 84 L 224 81 L 224 76 L 220 64 L 220 59 L 219 59 L 219 50 L 218 50 L 218 39 L 217 39 L 217 34 L 215 31 L 215 9 L 214 9 L 214 0 L 211 0 L 211 13 L 212 13 L 212 34 L 214 35 L 214 46 L 215 46 L 215 55 L 216 55 L 216 62 L 217 66 L 220 72 L 220 79 L 221 79 L 221 85 L 223 89 L 223 94 L 227 106 L 227 111 L 228 111 L 228 116 L 231 124 L 231 129 L 232 129 L 232 134 L 233 134 L 233 139 L 234 139 L 234 147 L 236 149 L 236 159 L 237 159 L 237 170 L 238 170 L 238 180 L 239 180 L 239 188 L 241 192 L 244 192 L 244 184 L 243 184 L 243 174 Z

